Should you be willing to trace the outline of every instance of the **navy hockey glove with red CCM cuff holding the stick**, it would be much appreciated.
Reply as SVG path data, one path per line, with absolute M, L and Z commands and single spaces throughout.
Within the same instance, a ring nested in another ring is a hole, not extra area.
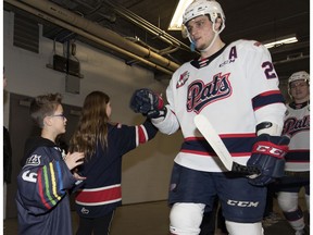
M 249 176 L 250 184 L 264 186 L 284 176 L 285 154 L 288 151 L 289 140 L 287 137 L 267 134 L 258 136 L 247 166 L 258 168 L 260 174 Z

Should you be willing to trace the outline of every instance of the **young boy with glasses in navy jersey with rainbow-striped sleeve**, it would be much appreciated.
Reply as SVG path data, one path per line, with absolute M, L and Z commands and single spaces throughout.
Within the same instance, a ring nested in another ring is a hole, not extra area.
M 18 234 L 73 234 L 67 189 L 84 180 L 71 170 L 83 163 L 82 152 L 62 156 L 55 144 L 65 133 L 60 94 L 36 97 L 30 116 L 41 136 L 28 139 L 25 164 L 17 176 Z

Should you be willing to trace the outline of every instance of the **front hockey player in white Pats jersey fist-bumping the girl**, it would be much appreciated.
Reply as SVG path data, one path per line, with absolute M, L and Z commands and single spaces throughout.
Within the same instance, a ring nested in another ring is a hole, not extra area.
M 225 44 L 225 15 L 216 1 L 196 0 L 185 11 L 191 48 L 201 57 L 183 64 L 166 89 L 167 106 L 150 89 L 134 92 L 130 107 L 164 134 L 181 129 L 184 143 L 172 171 L 170 231 L 198 235 L 217 195 L 230 235 L 261 235 L 266 186 L 284 175 L 288 138 L 280 137 L 286 107 L 268 50 L 258 41 Z M 247 177 L 227 172 L 196 128 L 205 115 L 234 161 L 260 170 Z

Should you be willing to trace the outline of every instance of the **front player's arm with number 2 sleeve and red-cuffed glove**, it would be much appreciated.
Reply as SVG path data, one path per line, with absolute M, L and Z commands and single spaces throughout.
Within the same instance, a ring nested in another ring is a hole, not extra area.
M 256 166 L 259 175 L 250 178 L 253 185 L 266 185 L 284 176 L 285 154 L 289 139 L 281 137 L 286 107 L 278 88 L 278 77 L 271 54 L 263 46 L 252 48 L 248 69 L 251 74 L 251 103 L 256 120 L 256 139 L 248 166 Z M 254 84 L 252 84 L 254 83 Z

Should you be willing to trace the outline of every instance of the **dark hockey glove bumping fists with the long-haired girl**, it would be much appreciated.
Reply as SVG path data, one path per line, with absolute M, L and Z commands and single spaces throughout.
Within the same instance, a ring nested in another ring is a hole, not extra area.
M 130 98 L 130 109 L 136 113 L 142 113 L 149 119 L 166 115 L 166 108 L 162 97 L 147 88 L 135 90 Z

